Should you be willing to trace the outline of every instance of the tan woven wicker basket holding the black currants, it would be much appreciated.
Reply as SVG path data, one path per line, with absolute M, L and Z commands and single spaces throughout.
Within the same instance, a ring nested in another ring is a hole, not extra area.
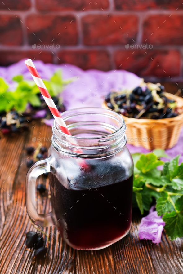
M 123 116 L 127 130 L 127 143 L 142 146 L 146 149 L 172 148 L 178 141 L 181 127 L 183 126 L 183 99 L 170 93 L 164 93 L 168 99 L 177 102 L 177 107 L 182 109 L 182 114 L 174 118 L 165 119 L 135 119 Z M 106 102 L 104 108 L 108 108 Z

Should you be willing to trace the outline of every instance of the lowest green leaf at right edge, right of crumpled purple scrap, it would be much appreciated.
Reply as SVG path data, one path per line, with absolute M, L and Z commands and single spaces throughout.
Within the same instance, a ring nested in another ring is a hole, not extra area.
M 165 213 L 163 221 L 165 222 L 165 231 L 171 240 L 183 236 L 183 196 L 175 203 L 176 211 Z

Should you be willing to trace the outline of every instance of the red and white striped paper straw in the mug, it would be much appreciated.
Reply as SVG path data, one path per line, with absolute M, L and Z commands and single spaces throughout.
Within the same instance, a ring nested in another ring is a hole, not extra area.
M 60 130 L 64 132 L 65 134 L 71 135 L 70 131 L 68 130 L 64 120 L 62 119 L 58 109 L 56 108 L 55 103 L 53 102 L 45 84 L 43 83 L 37 69 L 35 68 L 33 61 L 31 59 L 25 60 L 25 64 L 27 68 L 29 69 L 30 74 L 33 77 L 34 82 L 38 86 L 38 89 L 40 90 L 42 97 L 44 98 L 48 108 L 50 109 L 53 117 L 55 118 L 57 124 L 60 127 Z

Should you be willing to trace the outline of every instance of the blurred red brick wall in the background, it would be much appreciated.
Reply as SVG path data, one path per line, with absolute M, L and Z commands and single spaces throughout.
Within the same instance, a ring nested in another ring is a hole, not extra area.
M 183 79 L 182 0 L 0 1 L 0 65 L 21 58 Z

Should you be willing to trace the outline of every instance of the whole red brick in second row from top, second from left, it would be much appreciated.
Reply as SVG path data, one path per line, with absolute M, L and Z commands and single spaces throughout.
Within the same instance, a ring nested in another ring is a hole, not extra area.
M 29 15 L 26 26 L 30 45 L 77 44 L 78 33 L 74 16 Z

